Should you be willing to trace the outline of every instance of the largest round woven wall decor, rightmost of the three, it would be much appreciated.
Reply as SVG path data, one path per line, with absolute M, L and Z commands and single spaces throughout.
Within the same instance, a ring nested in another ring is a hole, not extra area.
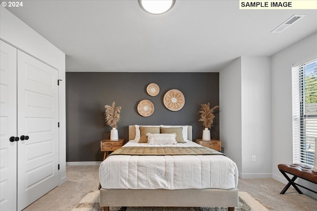
M 185 105 L 185 97 L 178 89 L 170 89 L 163 98 L 164 106 L 171 111 L 179 111 Z

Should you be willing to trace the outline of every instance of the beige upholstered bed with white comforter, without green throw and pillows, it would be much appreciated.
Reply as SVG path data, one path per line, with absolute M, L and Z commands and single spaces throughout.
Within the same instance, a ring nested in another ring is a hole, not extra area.
M 150 146 L 138 143 L 136 133 L 138 128 L 129 126 L 129 141 L 121 149 Z M 192 141 L 191 126 L 186 126 L 186 133 L 186 143 L 165 144 L 164 148 L 201 149 Z M 203 170 L 203 164 L 210 169 Z M 104 211 L 109 211 L 109 207 L 228 207 L 234 211 L 239 203 L 238 170 L 223 155 L 113 155 L 102 162 L 99 176 L 100 206 Z

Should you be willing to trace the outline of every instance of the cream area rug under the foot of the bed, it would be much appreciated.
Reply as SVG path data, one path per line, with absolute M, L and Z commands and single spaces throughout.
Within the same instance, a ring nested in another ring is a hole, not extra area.
M 99 205 L 99 191 L 88 193 L 72 211 L 103 211 Z M 187 207 L 110 207 L 110 211 L 228 211 L 228 208 Z M 239 207 L 235 211 L 268 211 L 259 200 L 247 192 L 239 192 Z

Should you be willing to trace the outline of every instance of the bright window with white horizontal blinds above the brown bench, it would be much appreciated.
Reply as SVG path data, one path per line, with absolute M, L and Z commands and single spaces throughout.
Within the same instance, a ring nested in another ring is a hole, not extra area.
M 317 56 L 293 65 L 293 162 L 314 165 L 317 139 Z

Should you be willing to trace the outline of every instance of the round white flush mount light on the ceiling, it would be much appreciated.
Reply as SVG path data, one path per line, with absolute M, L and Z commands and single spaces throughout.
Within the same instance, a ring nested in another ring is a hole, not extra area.
M 162 14 L 170 10 L 175 0 L 139 0 L 141 8 L 151 14 Z

